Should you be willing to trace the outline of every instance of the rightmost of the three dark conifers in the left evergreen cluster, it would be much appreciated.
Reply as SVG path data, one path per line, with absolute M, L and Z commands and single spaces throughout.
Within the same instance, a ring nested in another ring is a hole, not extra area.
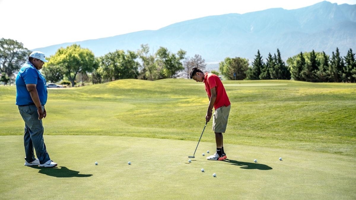
M 271 74 L 272 79 L 290 79 L 290 71 L 286 64 L 281 58 L 281 52 L 277 48 L 277 56 L 274 54 L 273 57 L 276 64 L 274 68 L 270 68 L 269 73 Z

